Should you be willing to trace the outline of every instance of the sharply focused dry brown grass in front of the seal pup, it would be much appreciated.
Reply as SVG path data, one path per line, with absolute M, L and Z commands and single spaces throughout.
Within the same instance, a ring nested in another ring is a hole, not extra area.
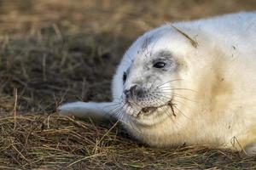
M 154 149 L 127 138 L 120 127 L 98 126 L 55 115 L 2 116 L 0 167 L 21 169 L 80 167 L 99 169 L 255 168 L 242 158 L 206 147 Z M 111 132 L 109 129 L 112 129 Z

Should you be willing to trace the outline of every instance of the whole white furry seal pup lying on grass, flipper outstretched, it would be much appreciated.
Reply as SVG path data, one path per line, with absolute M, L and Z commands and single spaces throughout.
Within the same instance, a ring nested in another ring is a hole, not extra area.
M 137 139 L 256 152 L 256 12 L 160 26 L 126 51 L 113 101 L 61 105 L 62 115 L 113 116 Z

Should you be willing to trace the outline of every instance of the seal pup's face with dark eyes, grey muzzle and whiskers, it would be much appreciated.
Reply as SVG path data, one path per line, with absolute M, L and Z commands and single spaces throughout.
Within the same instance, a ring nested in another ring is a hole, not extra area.
M 155 50 L 152 39 L 143 40 L 122 77 L 122 110 L 131 120 L 143 125 L 154 125 L 167 116 L 175 116 L 173 89 L 179 81 L 179 65 L 172 52 L 168 48 Z

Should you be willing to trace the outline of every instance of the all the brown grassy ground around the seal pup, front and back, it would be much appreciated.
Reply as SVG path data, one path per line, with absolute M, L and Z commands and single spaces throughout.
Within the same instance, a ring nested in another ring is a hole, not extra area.
M 119 59 L 144 31 L 253 9 L 251 0 L 0 0 L 0 169 L 256 169 L 255 156 L 151 148 L 115 122 L 55 113 L 109 100 Z

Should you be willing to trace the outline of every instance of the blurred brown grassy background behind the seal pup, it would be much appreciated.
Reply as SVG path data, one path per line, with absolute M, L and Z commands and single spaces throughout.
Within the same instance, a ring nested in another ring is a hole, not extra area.
M 13 107 L 15 89 L 20 112 L 110 99 L 115 67 L 144 31 L 253 9 L 252 0 L 0 0 L 0 106 Z

